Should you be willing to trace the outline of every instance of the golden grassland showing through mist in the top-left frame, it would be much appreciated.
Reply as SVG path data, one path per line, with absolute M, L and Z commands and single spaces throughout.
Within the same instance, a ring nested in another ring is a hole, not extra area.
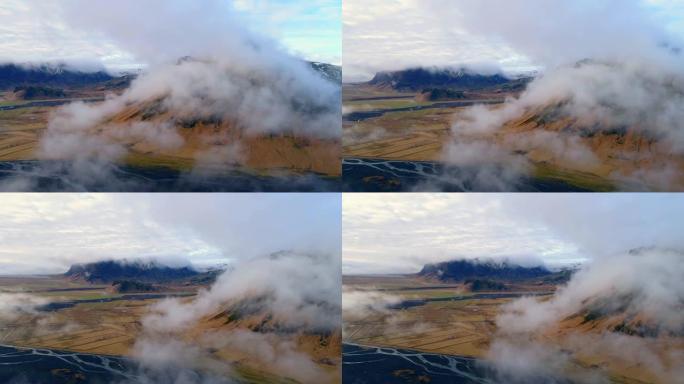
M 7 105 L 21 102 L 3 101 Z M 337 139 L 297 137 L 291 134 L 244 135 L 229 122 L 198 122 L 191 128 L 178 128 L 184 140 L 180 148 L 163 149 L 140 137 L 120 138 L 117 124 L 141 121 L 141 115 L 150 105 L 129 106 L 113 116 L 104 127 L 95 127 L 93 133 L 116 137 L 128 155 L 124 163 L 133 166 L 162 166 L 186 171 L 197 166 L 204 169 L 226 169 L 226 164 L 240 164 L 238 169 L 268 175 L 274 171 L 288 173 L 318 173 L 337 177 L 341 173 L 340 143 Z M 0 161 L 37 159 L 41 136 L 47 129 L 50 113 L 57 107 L 28 107 L 0 111 Z M 159 113 L 145 121 L 173 120 L 171 113 Z M 109 128 L 107 126 L 110 126 Z M 239 143 L 239 150 L 231 158 L 205 153 L 225 151 L 226 146 Z M 201 159 L 201 160 L 200 160 Z

